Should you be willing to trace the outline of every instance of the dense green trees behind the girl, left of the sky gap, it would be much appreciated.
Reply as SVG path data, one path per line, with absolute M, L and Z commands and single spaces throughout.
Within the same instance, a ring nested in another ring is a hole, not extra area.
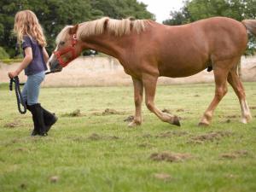
M 137 19 L 154 19 L 147 5 L 137 0 L 1 0 L 0 1 L 0 44 L 13 57 L 16 39 L 12 35 L 15 13 L 31 9 L 44 27 L 49 44 L 55 47 L 55 37 L 66 25 L 73 25 L 102 16 L 120 19 L 133 16 Z

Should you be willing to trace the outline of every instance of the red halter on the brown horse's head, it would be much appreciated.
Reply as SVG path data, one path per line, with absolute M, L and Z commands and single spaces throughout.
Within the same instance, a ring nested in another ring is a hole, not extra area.
M 57 50 L 53 52 L 53 54 L 57 57 L 57 60 L 59 61 L 61 67 L 66 67 L 70 61 L 73 61 L 75 58 L 77 58 L 77 54 L 75 51 L 75 45 L 77 43 L 78 43 L 77 35 L 73 34 L 71 46 L 67 47 L 66 49 Z M 63 61 L 61 58 L 61 55 L 67 54 L 68 52 L 72 52 L 72 57 L 67 61 Z

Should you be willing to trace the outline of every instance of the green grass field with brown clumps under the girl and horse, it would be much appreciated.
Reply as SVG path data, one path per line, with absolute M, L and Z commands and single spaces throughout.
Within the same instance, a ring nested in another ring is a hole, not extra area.
M 239 122 L 229 87 L 204 128 L 197 124 L 213 84 L 159 86 L 157 106 L 182 126 L 143 105 L 136 129 L 124 121 L 134 110 L 132 87 L 44 88 L 40 102 L 59 117 L 48 137 L 29 136 L 31 114 L 20 115 L 15 93 L 0 86 L 1 192 L 256 191 L 256 83 L 245 84 L 250 124 Z

